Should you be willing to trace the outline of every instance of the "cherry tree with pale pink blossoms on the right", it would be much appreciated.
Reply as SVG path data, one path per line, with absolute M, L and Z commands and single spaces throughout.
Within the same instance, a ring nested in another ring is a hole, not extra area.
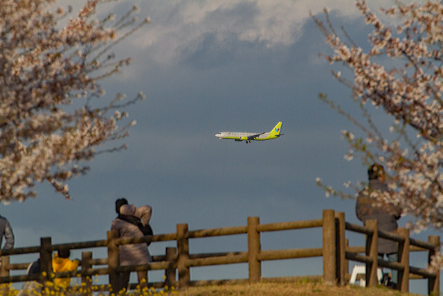
M 327 10 L 323 21 L 313 17 L 333 50 L 325 59 L 349 70 L 334 69 L 333 74 L 350 88 L 350 101 L 361 107 L 362 116 L 320 96 L 358 128 L 342 131 L 350 144 L 345 158 L 386 168 L 391 191 L 378 195 L 378 202 L 400 204 L 404 214 L 415 217 L 410 226 L 416 230 L 442 229 L 443 3 L 398 2 L 379 15 L 365 1 L 356 6 L 372 31 L 362 46 L 345 29 L 336 31 Z M 374 121 L 377 112 L 387 114 L 391 123 Z M 349 196 L 317 182 L 327 194 Z

